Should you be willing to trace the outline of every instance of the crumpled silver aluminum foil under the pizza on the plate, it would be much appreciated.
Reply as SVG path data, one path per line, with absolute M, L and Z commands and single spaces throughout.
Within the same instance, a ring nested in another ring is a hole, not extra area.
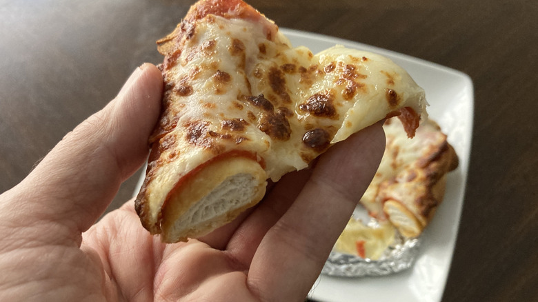
M 329 276 L 386 276 L 410 268 L 419 253 L 421 239 L 406 239 L 396 235 L 395 242 L 384 252 L 379 260 L 363 259 L 351 254 L 333 250 L 330 252 L 321 274 Z

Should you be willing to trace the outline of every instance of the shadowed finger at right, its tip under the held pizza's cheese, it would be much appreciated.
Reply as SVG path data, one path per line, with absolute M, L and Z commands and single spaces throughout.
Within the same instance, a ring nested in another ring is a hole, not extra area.
M 250 288 L 261 296 L 277 295 L 275 301 L 304 299 L 374 177 L 384 148 L 377 123 L 323 154 L 295 202 L 261 241 L 248 274 Z

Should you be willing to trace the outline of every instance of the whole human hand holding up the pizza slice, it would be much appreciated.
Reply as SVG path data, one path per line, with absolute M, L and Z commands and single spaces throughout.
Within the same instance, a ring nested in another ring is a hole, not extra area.
M 381 124 L 286 175 L 235 221 L 164 244 L 133 201 L 95 223 L 148 154 L 159 70 L 138 68 L 19 185 L 0 195 L 2 301 L 301 301 L 366 190 Z M 95 224 L 94 224 L 95 223 Z

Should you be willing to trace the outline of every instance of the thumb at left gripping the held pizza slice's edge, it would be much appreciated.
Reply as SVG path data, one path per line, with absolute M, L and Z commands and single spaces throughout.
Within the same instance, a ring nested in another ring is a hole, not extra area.
M 16 202 L 11 219 L 54 221 L 78 234 L 90 228 L 146 159 L 162 89 L 155 66 L 137 68 L 116 98 L 69 132 L 26 179 L 1 196 L 0 210 Z

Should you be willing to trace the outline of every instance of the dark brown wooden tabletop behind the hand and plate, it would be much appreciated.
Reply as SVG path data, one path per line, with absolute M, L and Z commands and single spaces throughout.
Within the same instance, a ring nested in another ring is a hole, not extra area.
M 159 63 L 155 40 L 191 3 L 0 1 L 0 192 L 108 103 L 132 70 Z M 538 1 L 250 3 L 281 27 L 470 75 L 470 170 L 443 301 L 538 301 Z M 136 180 L 111 208 L 131 197 Z

